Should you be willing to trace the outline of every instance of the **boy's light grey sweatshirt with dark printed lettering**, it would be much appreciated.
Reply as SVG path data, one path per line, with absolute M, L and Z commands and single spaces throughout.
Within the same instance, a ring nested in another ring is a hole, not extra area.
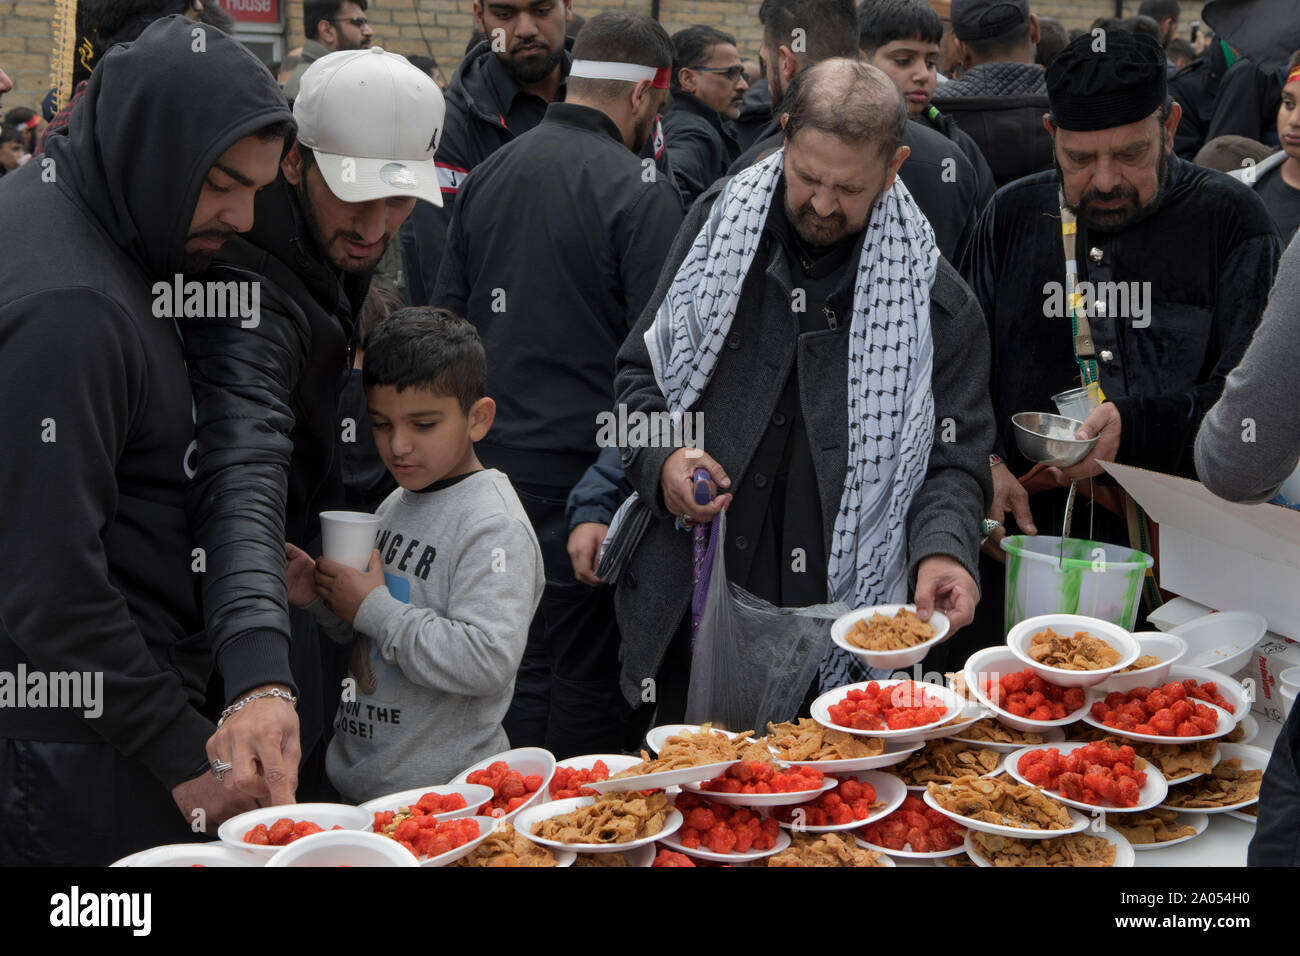
M 332 637 L 354 640 L 355 700 L 344 692 L 325 770 L 355 803 L 446 783 L 510 749 L 500 722 L 546 585 L 537 537 L 499 471 L 399 488 L 376 514 L 387 584 L 358 609 L 355 640 L 312 604 Z

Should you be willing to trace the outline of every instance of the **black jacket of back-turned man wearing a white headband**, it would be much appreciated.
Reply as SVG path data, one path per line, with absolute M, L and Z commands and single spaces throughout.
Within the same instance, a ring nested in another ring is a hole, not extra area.
M 577 483 L 597 457 L 595 416 L 614 407 L 614 356 L 680 222 L 672 179 L 646 170 L 588 107 L 552 103 L 469 176 L 433 303 L 484 339 L 497 401 L 477 446 L 485 464 L 519 481 Z

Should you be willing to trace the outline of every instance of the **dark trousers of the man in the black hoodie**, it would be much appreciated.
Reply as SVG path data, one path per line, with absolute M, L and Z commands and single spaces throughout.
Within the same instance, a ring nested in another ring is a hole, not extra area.
M 143 763 L 109 744 L 0 739 L 0 866 L 107 866 L 207 839 Z

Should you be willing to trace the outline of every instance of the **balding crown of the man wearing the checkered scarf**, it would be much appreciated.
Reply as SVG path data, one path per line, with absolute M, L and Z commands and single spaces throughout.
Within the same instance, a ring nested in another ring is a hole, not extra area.
M 907 107 L 883 70 L 861 60 L 823 60 L 801 70 L 785 98 L 785 143 L 815 130 L 892 156 L 907 130 Z

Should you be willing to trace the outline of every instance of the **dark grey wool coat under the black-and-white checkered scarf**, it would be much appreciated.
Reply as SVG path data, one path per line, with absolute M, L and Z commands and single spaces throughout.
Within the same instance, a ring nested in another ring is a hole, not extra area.
M 659 284 L 619 351 L 614 390 L 629 412 L 667 410 L 650 367 L 645 332 L 725 182 L 714 183 L 688 212 Z M 742 489 L 792 363 L 798 363 L 800 403 L 829 554 L 848 471 L 849 324 L 800 337 L 798 316 L 790 308 L 797 281 L 780 242 L 771 245 L 764 278 L 760 297 L 741 297 L 712 378 L 697 406 L 688 411 L 703 412 L 707 423 L 703 450 L 725 468 L 732 488 Z M 754 280 L 750 276 L 749 281 Z M 753 307 L 757 302 L 759 308 Z M 940 259 L 931 287 L 930 321 L 935 342 L 935 444 L 924 484 L 907 518 L 909 575 L 915 584 L 920 561 L 945 554 L 961 562 L 978 581 L 980 519 L 988 512 L 993 494 L 988 464 L 994 431 L 988 394 L 988 332 L 979 302 L 945 259 Z M 673 527 L 659 488 L 663 464 L 673 451 L 672 447 L 621 451 L 629 481 L 654 514 L 623 578 L 615 583 L 615 609 L 623 632 L 620 683 L 633 706 L 640 705 L 642 682 L 658 672 L 690 606 L 692 536 Z

